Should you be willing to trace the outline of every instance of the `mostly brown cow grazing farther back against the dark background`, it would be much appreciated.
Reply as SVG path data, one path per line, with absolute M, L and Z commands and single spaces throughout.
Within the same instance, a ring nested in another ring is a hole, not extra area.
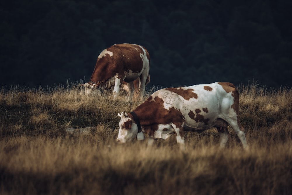
M 101 89 L 114 86 L 117 98 L 123 81 L 127 82 L 128 101 L 134 94 L 134 80 L 140 78 L 140 99 L 143 99 L 145 85 L 150 82 L 150 56 L 147 49 L 136 44 L 115 44 L 103 50 L 98 56 L 90 82 L 85 83 L 85 94 L 99 95 Z

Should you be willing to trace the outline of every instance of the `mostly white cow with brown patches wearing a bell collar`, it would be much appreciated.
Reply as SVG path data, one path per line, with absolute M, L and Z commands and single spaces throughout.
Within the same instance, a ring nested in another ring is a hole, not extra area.
M 148 145 L 154 139 L 176 135 L 180 148 L 185 148 L 184 131 L 203 132 L 217 127 L 220 148 L 229 137 L 228 124 L 248 148 L 243 127 L 239 122 L 239 94 L 228 82 L 199 84 L 190 87 L 166 88 L 154 92 L 131 113 L 122 112 L 117 142 L 131 141 L 138 132 L 149 135 Z

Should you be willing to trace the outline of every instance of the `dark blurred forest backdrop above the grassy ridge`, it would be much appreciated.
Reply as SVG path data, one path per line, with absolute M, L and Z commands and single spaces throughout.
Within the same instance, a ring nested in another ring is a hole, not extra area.
M 291 0 L 13 0 L 0 3 L 0 84 L 88 81 L 118 43 L 150 53 L 148 86 L 292 86 Z

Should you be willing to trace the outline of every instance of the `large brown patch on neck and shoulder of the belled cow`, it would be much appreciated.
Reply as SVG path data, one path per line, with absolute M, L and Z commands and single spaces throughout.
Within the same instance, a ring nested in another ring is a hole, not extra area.
M 173 123 L 183 131 L 182 124 L 185 121 L 183 114 L 176 108 L 169 110 L 164 108 L 163 99 L 150 96 L 144 103 L 134 109 L 140 119 L 141 126 L 149 136 L 153 136 L 158 130 L 158 125 Z

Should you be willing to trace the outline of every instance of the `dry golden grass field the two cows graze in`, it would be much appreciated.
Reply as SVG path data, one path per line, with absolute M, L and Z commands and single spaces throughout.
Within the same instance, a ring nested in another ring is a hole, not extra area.
M 219 150 L 214 128 L 185 133 L 182 153 L 174 136 L 115 143 L 117 113 L 141 101 L 86 97 L 78 84 L 2 87 L 0 194 L 292 194 L 292 90 L 238 89 L 249 150 L 232 129 Z M 94 128 L 65 131 L 81 127 Z

